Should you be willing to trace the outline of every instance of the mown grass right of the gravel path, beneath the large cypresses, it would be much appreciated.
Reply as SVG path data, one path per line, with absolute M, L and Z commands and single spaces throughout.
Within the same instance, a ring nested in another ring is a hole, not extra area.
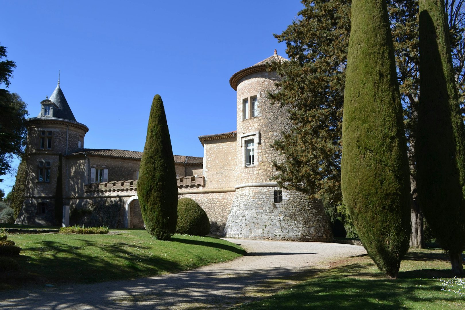
M 441 250 L 410 251 L 395 280 L 387 279 L 368 256 L 332 266 L 237 309 L 465 309 L 465 279 L 452 276 Z

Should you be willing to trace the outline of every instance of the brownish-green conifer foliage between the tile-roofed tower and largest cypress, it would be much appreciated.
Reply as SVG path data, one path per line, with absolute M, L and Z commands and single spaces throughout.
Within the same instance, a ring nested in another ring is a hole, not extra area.
M 272 65 L 283 78 L 272 102 L 286 103 L 289 132 L 273 144 L 285 155 L 276 163 L 280 187 L 341 202 L 340 157 L 350 1 L 302 1 L 301 20 L 275 37 L 286 41 L 291 61 Z M 334 216 L 336 218 L 337 216 Z

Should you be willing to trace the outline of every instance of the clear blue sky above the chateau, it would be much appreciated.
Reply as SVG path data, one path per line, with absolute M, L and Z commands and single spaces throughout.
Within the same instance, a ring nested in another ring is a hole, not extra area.
M 0 0 L 0 44 L 16 62 L 10 92 L 30 117 L 60 86 L 86 148 L 143 151 L 153 96 L 163 99 L 177 155 L 203 156 L 198 136 L 236 129 L 229 78 L 273 54 L 299 0 Z M 15 166 L 18 162 L 15 161 Z M 5 176 L 6 193 L 14 175 Z

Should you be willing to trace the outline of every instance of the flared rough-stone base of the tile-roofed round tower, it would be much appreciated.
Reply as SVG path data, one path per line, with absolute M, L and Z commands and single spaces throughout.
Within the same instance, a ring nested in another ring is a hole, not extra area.
M 236 188 L 226 221 L 225 237 L 331 242 L 329 219 L 319 201 L 311 202 L 297 191 L 282 191 L 274 203 L 277 186 Z

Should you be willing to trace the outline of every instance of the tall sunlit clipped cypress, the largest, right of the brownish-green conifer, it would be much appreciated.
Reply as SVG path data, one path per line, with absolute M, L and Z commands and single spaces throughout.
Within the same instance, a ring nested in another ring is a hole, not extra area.
M 366 251 L 395 278 L 409 245 L 410 185 L 389 26 L 385 1 L 352 1 L 341 189 Z

